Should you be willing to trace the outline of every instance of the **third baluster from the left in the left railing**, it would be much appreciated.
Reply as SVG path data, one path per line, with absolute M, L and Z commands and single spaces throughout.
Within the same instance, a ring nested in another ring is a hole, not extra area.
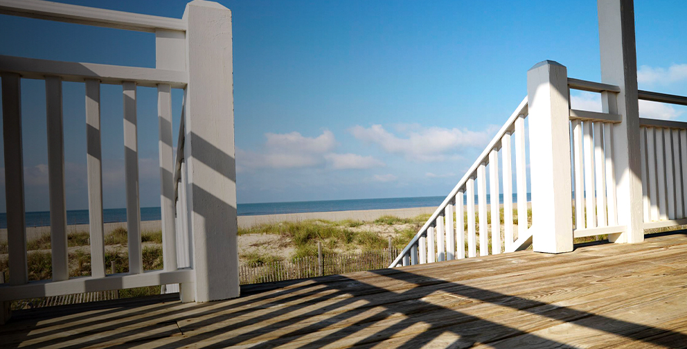
M 100 81 L 86 80 L 86 167 L 91 238 L 91 276 L 105 276 L 102 220 L 102 153 L 100 150 Z

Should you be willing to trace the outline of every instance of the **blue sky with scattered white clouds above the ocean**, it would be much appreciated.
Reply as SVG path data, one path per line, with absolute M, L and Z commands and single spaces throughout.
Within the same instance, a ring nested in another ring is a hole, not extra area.
M 186 3 L 61 2 L 176 18 Z M 233 13 L 240 203 L 446 195 L 524 98 L 530 66 L 600 80 L 594 0 L 219 2 Z M 635 12 L 640 89 L 686 95 L 686 6 L 637 0 Z M 0 33 L 2 55 L 154 67 L 150 33 L 8 16 Z M 84 86 L 63 89 L 67 208 L 83 209 Z M 125 206 L 121 93 L 102 86 L 105 208 Z M 159 206 L 156 93 L 138 93 L 141 206 Z M 22 81 L 27 211 L 48 210 L 44 96 Z M 600 106 L 591 93 L 572 102 Z M 172 103 L 176 140 L 181 91 Z

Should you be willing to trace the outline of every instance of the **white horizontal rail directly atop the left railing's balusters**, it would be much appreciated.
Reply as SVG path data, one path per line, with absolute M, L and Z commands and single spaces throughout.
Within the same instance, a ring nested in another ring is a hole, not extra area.
M 139 86 L 157 87 L 169 84 L 174 88 L 186 87 L 187 77 L 183 71 L 139 68 L 136 66 L 114 66 L 107 64 L 60 62 L 35 58 L 0 55 L 3 71 L 21 74 L 22 78 L 43 80 L 44 76 L 59 76 L 63 81 L 84 82 L 99 79 L 103 84 L 122 84 L 135 81 Z

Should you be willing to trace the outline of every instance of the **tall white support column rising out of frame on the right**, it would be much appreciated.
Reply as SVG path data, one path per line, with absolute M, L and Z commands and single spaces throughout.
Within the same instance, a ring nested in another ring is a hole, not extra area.
M 643 197 L 639 156 L 639 101 L 637 55 L 634 42 L 632 0 L 597 1 L 601 82 L 620 87 L 617 105 L 621 123 L 614 124 L 613 149 L 616 170 L 618 224 L 625 233 L 609 235 L 612 242 L 642 242 Z

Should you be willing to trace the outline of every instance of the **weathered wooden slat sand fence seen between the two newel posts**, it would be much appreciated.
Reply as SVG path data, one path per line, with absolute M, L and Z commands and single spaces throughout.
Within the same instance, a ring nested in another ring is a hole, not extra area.
M 244 264 L 240 267 L 239 278 L 241 285 L 247 285 L 383 269 L 398 252 L 398 249 L 382 249 L 359 253 L 320 253 L 319 256 Z

